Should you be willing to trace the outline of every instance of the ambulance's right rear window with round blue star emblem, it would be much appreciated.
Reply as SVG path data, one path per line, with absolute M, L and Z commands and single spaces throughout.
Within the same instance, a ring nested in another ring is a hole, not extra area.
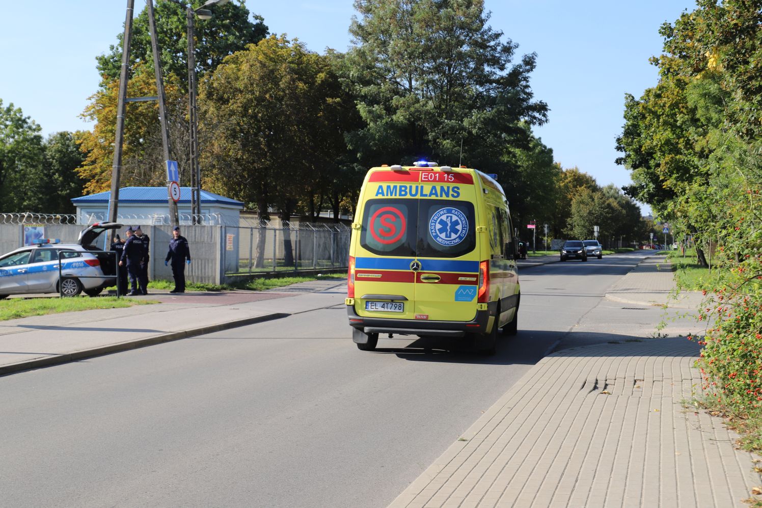
M 418 256 L 456 258 L 476 246 L 474 206 L 468 201 L 421 199 Z

